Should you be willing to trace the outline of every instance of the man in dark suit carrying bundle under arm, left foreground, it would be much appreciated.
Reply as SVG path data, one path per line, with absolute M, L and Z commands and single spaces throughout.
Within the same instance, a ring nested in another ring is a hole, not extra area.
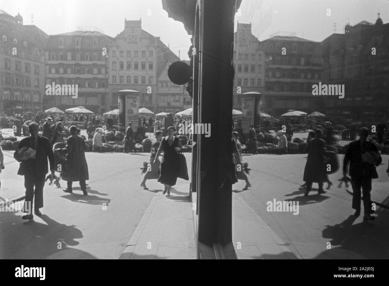
M 37 216 L 42 215 L 39 209 L 43 207 L 43 187 L 45 184 L 45 176 L 48 173 L 47 158 L 50 162 L 51 173 L 54 170 L 54 153 L 51 149 L 50 141 L 43 136 L 39 136 L 39 125 L 32 122 L 28 125 L 30 130 L 30 137 L 24 138 L 20 141 L 18 149 L 14 153 L 14 158 L 20 163 L 18 175 L 25 176 L 26 200 L 27 206 L 32 207 L 32 200 L 34 199 L 34 213 Z M 30 147 L 35 150 L 35 157 L 27 159 L 25 153 L 19 153 L 23 147 Z M 34 190 L 35 185 L 35 190 Z M 31 212 L 31 209 L 26 211 Z M 24 215 L 23 220 L 32 220 L 33 215 Z

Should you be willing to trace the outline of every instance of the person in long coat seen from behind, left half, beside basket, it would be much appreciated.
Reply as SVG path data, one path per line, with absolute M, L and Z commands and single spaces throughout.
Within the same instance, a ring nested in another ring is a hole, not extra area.
M 70 136 L 66 140 L 66 147 L 61 148 L 66 153 L 65 166 L 62 166 L 62 179 L 68 182 L 67 189 L 64 192 L 72 193 L 72 183 L 80 182 L 81 190 L 84 195 L 86 192 L 86 180 L 89 180 L 88 164 L 85 159 L 85 151 L 88 150 L 84 139 L 76 135 L 77 127 L 70 127 Z

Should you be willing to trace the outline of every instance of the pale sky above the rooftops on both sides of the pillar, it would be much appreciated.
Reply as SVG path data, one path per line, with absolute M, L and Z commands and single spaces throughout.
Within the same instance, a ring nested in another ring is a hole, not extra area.
M 209 0 L 205 0 L 209 1 Z M 2 1 L 0 9 L 23 16 L 23 24 L 34 24 L 48 35 L 96 27 L 115 37 L 124 30 L 124 18 L 142 19 L 142 29 L 162 42 L 181 59 L 187 52 L 191 36 L 184 25 L 168 17 L 161 0 L 12 0 Z M 330 9 L 330 10 L 328 10 Z M 375 23 L 377 13 L 389 22 L 389 0 L 243 0 L 235 14 L 236 23 L 251 23 L 252 34 L 265 40 L 295 33 L 297 37 L 320 42 L 336 32 L 344 33 L 350 21 L 353 26 L 363 20 Z M 89 30 L 89 29 L 88 29 Z

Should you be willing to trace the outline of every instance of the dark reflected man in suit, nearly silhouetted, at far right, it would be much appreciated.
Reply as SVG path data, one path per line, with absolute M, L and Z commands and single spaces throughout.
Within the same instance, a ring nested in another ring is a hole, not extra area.
M 343 176 L 349 175 L 352 185 L 352 208 L 355 209 L 355 216 L 361 214 L 361 188 L 363 197 L 364 216 L 363 220 L 374 220 L 371 216 L 374 211 L 371 209 L 371 179 L 377 179 L 378 174 L 375 166 L 382 162 L 378 148 L 373 143 L 366 141 L 369 129 L 363 127 L 359 130 L 359 140 L 350 143 L 343 159 Z

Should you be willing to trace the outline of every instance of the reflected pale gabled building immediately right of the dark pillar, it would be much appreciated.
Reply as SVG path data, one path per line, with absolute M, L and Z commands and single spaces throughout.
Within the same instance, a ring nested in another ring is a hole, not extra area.
M 234 87 L 233 108 L 242 108 L 242 93 L 265 91 L 264 45 L 251 33 L 251 24 L 238 23 L 234 33 Z M 262 105 L 264 106 L 263 97 Z

